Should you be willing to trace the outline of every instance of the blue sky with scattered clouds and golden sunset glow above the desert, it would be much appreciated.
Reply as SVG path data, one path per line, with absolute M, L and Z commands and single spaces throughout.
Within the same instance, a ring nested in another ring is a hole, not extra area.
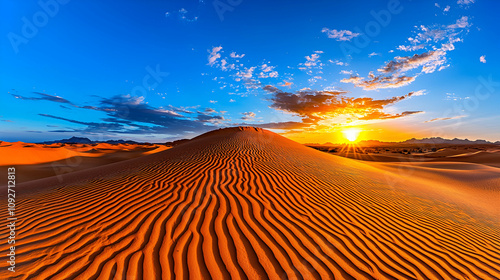
M 500 140 L 497 1 L 1 3 L 4 141 Z

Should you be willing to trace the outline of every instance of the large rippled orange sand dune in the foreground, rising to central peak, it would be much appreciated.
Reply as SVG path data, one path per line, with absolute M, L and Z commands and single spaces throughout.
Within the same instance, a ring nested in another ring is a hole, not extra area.
M 500 203 L 463 196 L 498 197 L 500 175 L 447 198 L 453 179 L 419 180 L 425 168 L 253 128 L 207 133 L 18 185 L 17 272 L 0 262 L 0 279 L 499 279 Z

